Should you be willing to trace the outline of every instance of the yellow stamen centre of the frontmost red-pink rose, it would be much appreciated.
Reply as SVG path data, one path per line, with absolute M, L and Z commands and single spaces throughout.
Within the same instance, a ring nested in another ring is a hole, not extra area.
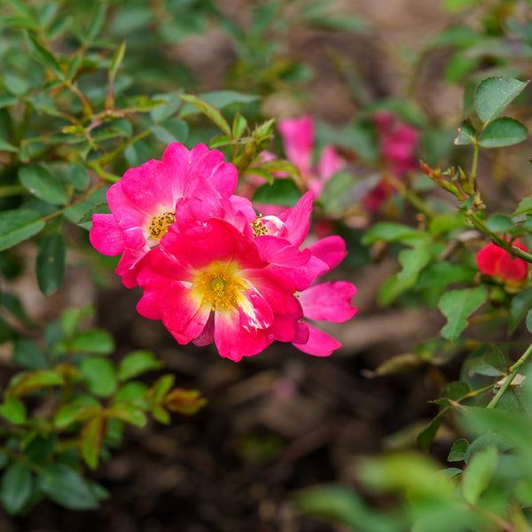
M 192 290 L 201 297 L 201 305 L 208 303 L 211 310 L 237 308 L 239 292 L 245 290 L 237 273 L 235 264 L 223 262 L 213 262 L 207 270 L 200 271 Z

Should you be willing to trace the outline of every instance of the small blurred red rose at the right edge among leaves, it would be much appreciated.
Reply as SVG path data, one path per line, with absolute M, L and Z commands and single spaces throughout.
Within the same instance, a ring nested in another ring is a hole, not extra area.
M 527 246 L 514 240 L 512 246 L 528 251 Z M 528 277 L 528 262 L 513 257 L 502 247 L 490 242 L 476 256 L 478 269 L 505 283 L 519 285 Z

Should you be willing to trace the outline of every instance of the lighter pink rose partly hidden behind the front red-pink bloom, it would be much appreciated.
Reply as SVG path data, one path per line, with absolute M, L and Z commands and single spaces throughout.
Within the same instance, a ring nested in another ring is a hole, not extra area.
M 158 246 L 174 223 L 176 201 L 185 196 L 230 198 L 237 186 L 236 168 L 223 153 L 196 145 L 189 152 L 172 143 L 162 160 L 130 168 L 107 191 L 110 215 L 93 215 L 90 243 L 101 254 L 121 254 L 116 273 L 128 288 L 137 285 L 139 262 Z

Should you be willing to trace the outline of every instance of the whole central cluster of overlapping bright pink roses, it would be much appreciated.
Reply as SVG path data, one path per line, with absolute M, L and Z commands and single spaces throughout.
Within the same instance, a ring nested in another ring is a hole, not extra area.
M 238 362 L 274 340 L 328 356 L 340 342 L 306 320 L 353 317 L 356 287 L 317 283 L 347 254 L 340 237 L 303 247 L 312 192 L 279 215 L 257 216 L 234 194 L 236 168 L 205 145 L 173 143 L 161 160 L 129 169 L 107 191 L 111 214 L 93 215 L 90 242 L 121 254 L 116 273 L 141 286 L 138 312 L 180 344 L 215 343 Z

